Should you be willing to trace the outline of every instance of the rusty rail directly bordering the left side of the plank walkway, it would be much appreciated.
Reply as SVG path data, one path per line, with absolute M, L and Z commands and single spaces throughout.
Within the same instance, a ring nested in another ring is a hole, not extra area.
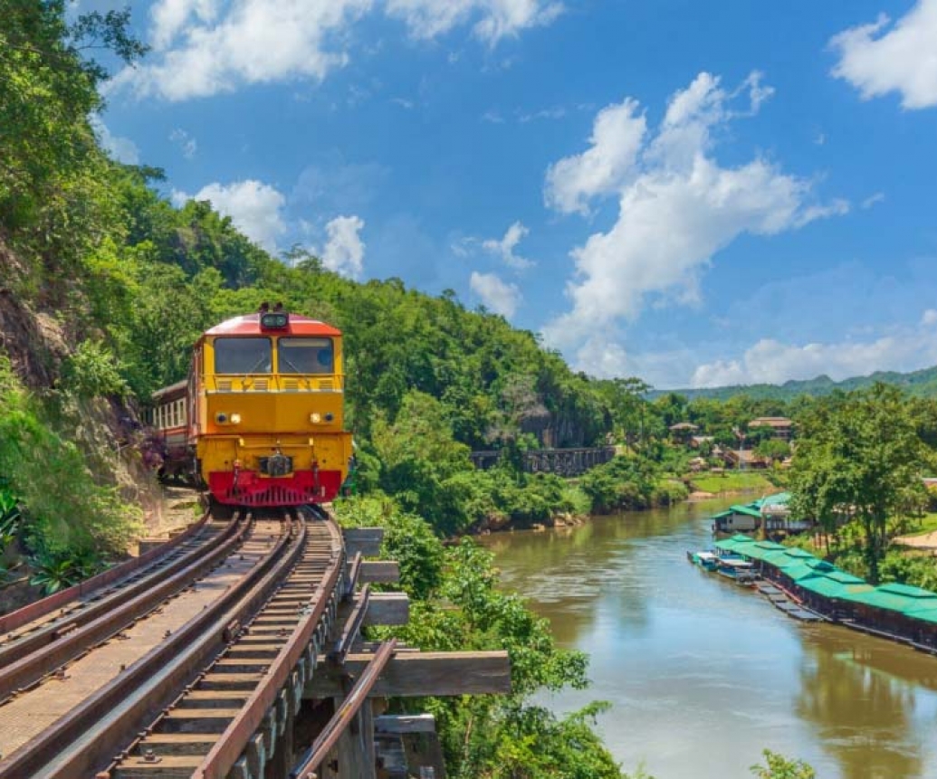
M 27 654 L 0 669 L 0 700 L 37 682 L 77 655 L 111 638 L 126 625 L 155 609 L 169 595 L 185 589 L 192 581 L 201 578 L 241 543 L 248 526 L 249 522 L 240 522 L 238 527 L 238 522 L 232 521 L 225 534 L 226 540 L 207 556 L 197 555 L 194 562 L 189 562 L 182 570 L 158 581 L 155 586 L 136 595 L 131 593 L 116 609 L 105 611 L 85 625 L 76 625 L 75 629 L 52 643 L 47 643 L 32 654 Z

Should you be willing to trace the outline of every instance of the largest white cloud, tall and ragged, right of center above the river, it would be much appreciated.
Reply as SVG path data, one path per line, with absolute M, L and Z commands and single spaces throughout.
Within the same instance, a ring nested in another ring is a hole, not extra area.
M 770 94 L 757 73 L 733 92 L 701 73 L 670 99 L 656 133 L 626 99 L 599 112 L 586 152 L 547 170 L 545 197 L 558 211 L 583 213 L 593 198 L 618 199 L 616 224 L 573 249 L 573 307 L 543 329 L 548 343 L 579 349 L 579 367 L 591 371 L 595 355 L 617 354 L 617 327 L 649 296 L 697 301 L 701 274 L 738 236 L 774 235 L 848 211 L 842 200 L 815 202 L 809 180 L 763 157 L 735 168 L 715 159 L 714 133 Z M 741 97 L 746 104 L 736 108 Z

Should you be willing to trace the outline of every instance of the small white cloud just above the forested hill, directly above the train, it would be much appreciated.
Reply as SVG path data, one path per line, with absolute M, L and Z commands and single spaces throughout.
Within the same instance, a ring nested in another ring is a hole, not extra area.
M 286 203 L 276 189 L 253 179 L 233 184 L 208 184 L 195 195 L 174 191 L 177 205 L 186 200 L 209 200 L 218 213 L 230 216 L 234 226 L 248 238 L 269 251 L 276 250 L 276 239 L 286 231 L 282 210 Z

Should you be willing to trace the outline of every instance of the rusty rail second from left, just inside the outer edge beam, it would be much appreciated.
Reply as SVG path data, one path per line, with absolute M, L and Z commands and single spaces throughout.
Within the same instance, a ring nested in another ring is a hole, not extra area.
M 43 646 L 62 638 L 65 633 L 81 625 L 87 625 L 102 614 L 111 613 L 112 610 L 126 603 L 134 595 L 149 591 L 160 580 L 165 580 L 173 574 L 191 565 L 194 561 L 204 559 L 205 554 L 222 544 L 231 536 L 237 524 L 237 517 L 214 536 L 205 539 L 194 549 L 187 551 L 176 559 L 171 554 L 176 550 L 167 551 L 153 566 L 138 571 L 136 577 L 129 577 L 126 581 L 118 581 L 109 590 L 103 590 L 97 599 L 80 602 L 80 608 L 74 613 L 64 613 L 61 618 L 50 620 L 38 625 L 35 630 L 24 633 L 15 639 L 7 639 L 7 643 L 0 644 L 0 669 L 8 668 L 17 660 L 40 650 Z M 195 527 L 195 526 L 193 526 Z M 201 525 L 198 525 L 201 529 Z M 105 572 L 107 573 L 107 571 Z M 90 580 L 89 580 L 90 581 Z M 106 585 L 104 585 L 106 586 Z M 28 607 L 27 607 L 28 608 Z M 2 686 L 2 683 L 0 683 Z M 0 690 L 0 698 L 2 698 Z

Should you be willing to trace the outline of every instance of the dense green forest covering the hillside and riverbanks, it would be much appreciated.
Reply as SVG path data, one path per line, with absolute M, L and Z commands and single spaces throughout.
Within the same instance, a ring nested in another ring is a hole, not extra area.
M 261 301 L 345 332 L 361 494 L 339 512 L 387 528 L 386 553 L 401 562 L 418 617 L 403 638 L 511 651 L 512 696 L 425 701 L 454 776 L 621 773 L 589 727 L 601 706 L 558 720 L 529 703 L 543 686 L 584 685 L 586 658 L 559 651 L 543 621 L 498 592 L 487 555 L 468 541 L 446 548 L 444 538 L 669 504 L 687 494 L 691 461 L 716 464 L 718 447 L 744 439 L 770 461 L 786 457 L 748 423 L 787 416 L 802 454 L 772 478 L 796 487 L 798 506 L 836 533 L 834 552 L 873 578 L 934 576 L 932 563 L 908 563 L 888 544 L 907 527 L 896 520 L 927 500 L 918 482 L 934 465 L 937 401 L 846 392 L 865 380 L 825 378 L 655 394 L 638 379 L 573 372 L 534 333 L 469 310 L 452 292 L 356 283 L 301 246 L 272 257 L 209 203 L 173 206 L 159 170 L 102 151 L 91 117 L 107 73 L 86 54 L 145 55 L 126 35 L 126 12 L 69 23 L 64 0 L 0 0 L 0 19 L 0 583 L 27 570 L 51 592 L 126 553 L 154 483 L 139 448 L 141 405 L 186 374 L 201 331 Z M 935 371 L 872 378 L 930 395 Z M 706 441 L 676 440 L 680 422 Z M 878 456 L 885 429 L 888 459 Z M 608 444 L 622 456 L 577 483 L 521 467 L 528 448 Z M 473 448 L 500 449 L 498 466 L 476 471 Z M 868 500 L 855 492 L 876 478 Z M 851 535 L 838 524 L 843 505 L 859 509 Z

